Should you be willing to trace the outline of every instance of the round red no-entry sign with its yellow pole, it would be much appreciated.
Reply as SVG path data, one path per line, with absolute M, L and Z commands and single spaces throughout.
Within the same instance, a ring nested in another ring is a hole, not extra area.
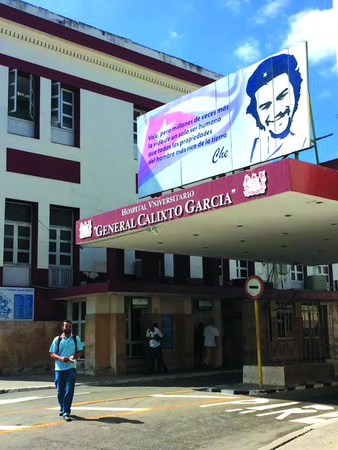
M 257 275 L 247 278 L 245 283 L 245 292 L 249 299 L 254 300 L 254 320 L 256 326 L 256 347 L 257 347 L 257 367 L 258 367 L 258 386 L 263 385 L 262 359 L 260 348 L 260 325 L 259 325 L 259 309 L 258 299 L 264 292 L 264 282 Z

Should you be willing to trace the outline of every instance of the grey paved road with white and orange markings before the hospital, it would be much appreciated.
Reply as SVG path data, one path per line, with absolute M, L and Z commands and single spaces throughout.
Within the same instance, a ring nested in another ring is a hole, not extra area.
M 203 391 L 203 381 L 82 385 L 71 423 L 59 418 L 54 390 L 2 394 L 1 448 L 257 450 L 338 417 L 338 388 L 249 397 Z

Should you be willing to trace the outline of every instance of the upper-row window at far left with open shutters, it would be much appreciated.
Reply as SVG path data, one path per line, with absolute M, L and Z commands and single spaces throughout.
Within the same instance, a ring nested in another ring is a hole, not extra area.
M 9 69 L 8 132 L 34 137 L 37 77 Z

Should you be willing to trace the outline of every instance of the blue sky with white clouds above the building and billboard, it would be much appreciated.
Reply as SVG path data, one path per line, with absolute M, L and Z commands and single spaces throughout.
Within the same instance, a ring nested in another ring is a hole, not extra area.
M 227 75 L 308 41 L 309 88 L 321 161 L 338 158 L 333 0 L 30 0 L 36 6 Z M 314 162 L 314 151 L 300 159 Z

